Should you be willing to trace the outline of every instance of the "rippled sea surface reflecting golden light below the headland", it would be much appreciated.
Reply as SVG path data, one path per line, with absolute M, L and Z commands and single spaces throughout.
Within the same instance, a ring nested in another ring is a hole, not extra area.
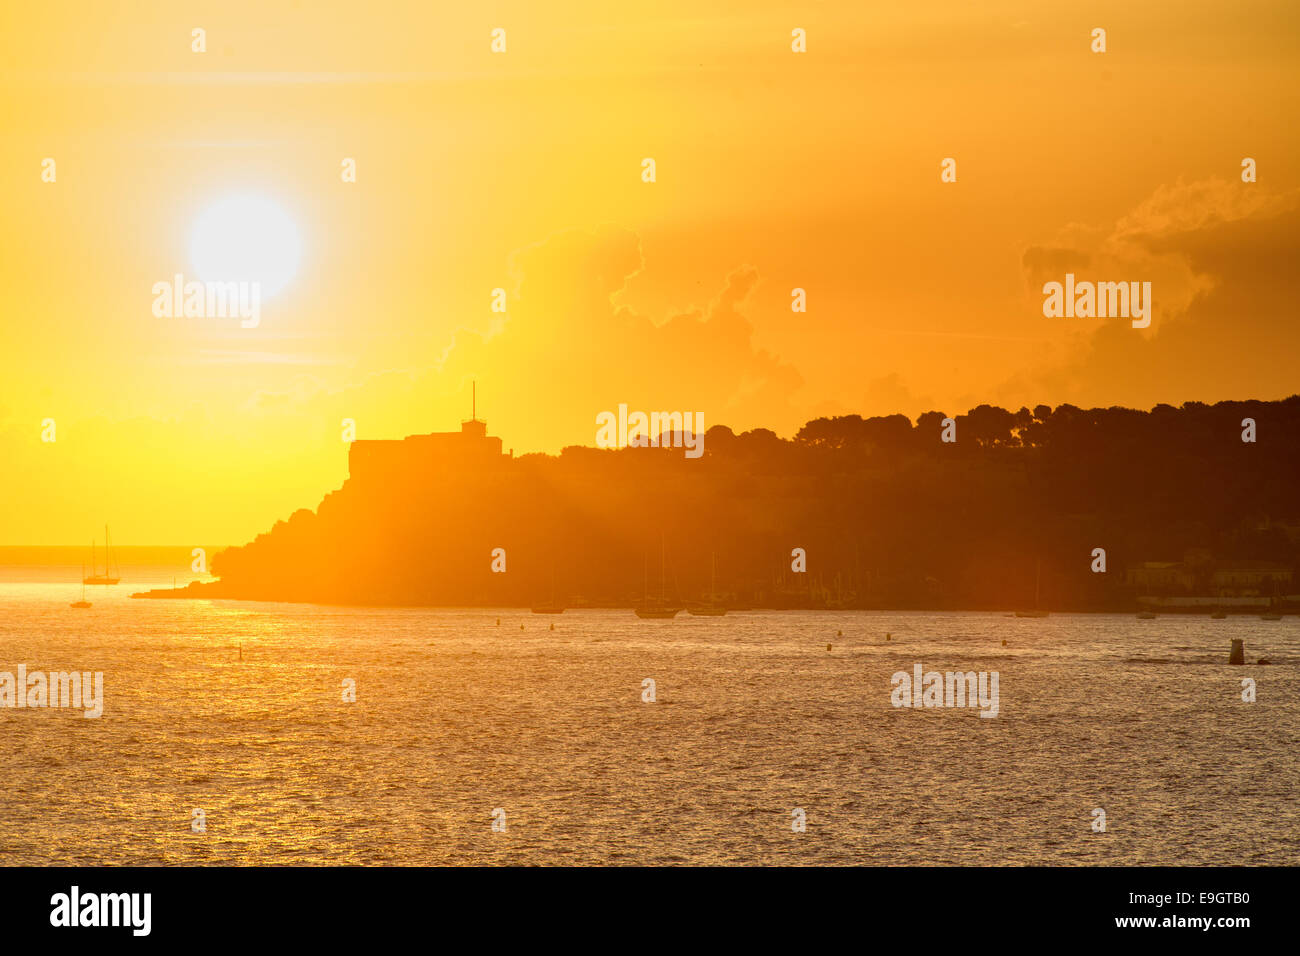
M 0 671 L 105 683 L 100 719 L 0 709 L 0 864 L 1300 864 L 1294 618 L 654 622 L 139 601 L 172 572 L 124 571 L 74 610 L 0 568 Z M 893 708 L 918 662 L 998 671 L 1001 713 Z

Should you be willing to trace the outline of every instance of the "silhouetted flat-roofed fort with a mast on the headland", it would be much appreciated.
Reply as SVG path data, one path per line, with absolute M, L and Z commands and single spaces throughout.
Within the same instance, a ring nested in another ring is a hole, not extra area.
M 347 451 L 347 473 L 356 481 L 393 476 L 436 476 L 447 471 L 499 468 L 514 460 L 515 450 L 502 451 L 500 438 L 488 434 L 477 416 L 477 395 L 468 421 L 459 432 L 430 432 L 406 438 L 359 438 Z

